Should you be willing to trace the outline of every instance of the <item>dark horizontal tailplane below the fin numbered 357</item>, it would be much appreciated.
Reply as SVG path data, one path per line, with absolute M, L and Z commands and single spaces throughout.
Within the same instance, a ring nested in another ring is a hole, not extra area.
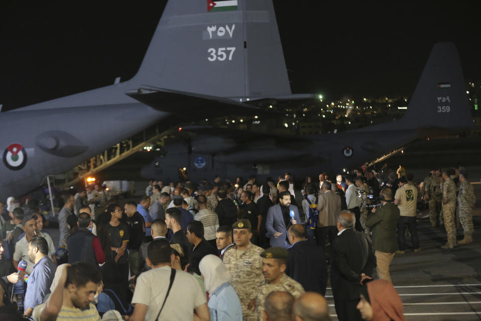
M 141 86 L 130 90 L 126 95 L 156 110 L 169 112 L 183 117 L 206 116 L 276 116 L 275 111 L 236 102 L 231 99 L 183 92 L 178 90 Z

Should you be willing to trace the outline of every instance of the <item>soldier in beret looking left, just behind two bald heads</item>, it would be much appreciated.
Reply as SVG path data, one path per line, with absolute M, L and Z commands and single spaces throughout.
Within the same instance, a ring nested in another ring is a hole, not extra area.
M 261 283 L 256 306 L 258 319 L 263 320 L 264 302 L 269 293 L 274 291 L 289 292 L 297 299 L 305 291 L 299 282 L 284 273 L 289 256 L 289 252 L 286 249 L 271 247 L 262 252 L 260 256 L 262 257 L 262 271 L 265 279 Z

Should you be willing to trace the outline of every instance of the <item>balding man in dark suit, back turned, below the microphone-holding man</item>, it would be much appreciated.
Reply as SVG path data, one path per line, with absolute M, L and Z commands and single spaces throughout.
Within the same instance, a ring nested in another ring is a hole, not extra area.
M 294 224 L 289 229 L 289 262 L 286 274 L 309 292 L 326 295 L 327 266 L 324 252 L 317 245 L 309 244 L 306 229 L 302 224 Z

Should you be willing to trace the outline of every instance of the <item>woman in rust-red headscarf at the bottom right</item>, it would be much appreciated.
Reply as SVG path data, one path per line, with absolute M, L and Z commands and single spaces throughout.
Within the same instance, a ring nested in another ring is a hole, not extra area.
M 357 309 L 364 320 L 371 321 L 406 321 L 402 312 L 399 294 L 386 280 L 368 282 L 362 287 Z

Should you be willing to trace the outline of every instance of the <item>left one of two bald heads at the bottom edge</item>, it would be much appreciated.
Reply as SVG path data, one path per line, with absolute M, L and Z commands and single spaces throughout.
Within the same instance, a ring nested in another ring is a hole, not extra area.
M 294 296 L 288 292 L 269 293 L 264 302 L 264 321 L 291 321 Z

